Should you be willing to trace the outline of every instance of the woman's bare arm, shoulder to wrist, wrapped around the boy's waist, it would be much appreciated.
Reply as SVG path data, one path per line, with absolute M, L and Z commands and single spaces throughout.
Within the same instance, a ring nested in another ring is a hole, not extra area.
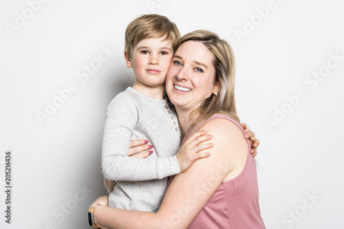
M 244 167 L 246 160 L 242 158 L 248 152 L 244 135 L 233 122 L 211 120 L 202 130 L 213 135 L 214 146 L 207 149 L 211 157 L 197 160 L 185 173 L 175 176 L 158 212 L 98 206 L 94 211 L 97 225 L 100 228 L 187 228 L 228 173 Z

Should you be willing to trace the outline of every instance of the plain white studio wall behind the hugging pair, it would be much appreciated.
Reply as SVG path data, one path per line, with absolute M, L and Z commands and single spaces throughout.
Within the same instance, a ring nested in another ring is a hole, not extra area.
M 344 228 L 341 1 L 1 1 L 0 227 L 89 228 L 107 105 L 133 84 L 128 23 L 157 13 L 233 46 L 241 122 L 261 140 L 267 228 Z M 41 118 L 39 118 L 41 117 Z M 5 153 L 12 151 L 11 224 Z

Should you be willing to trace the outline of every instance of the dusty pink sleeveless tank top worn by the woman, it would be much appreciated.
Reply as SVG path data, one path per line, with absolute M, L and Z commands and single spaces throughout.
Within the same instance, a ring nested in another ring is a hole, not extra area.
M 215 118 L 224 118 L 235 123 L 245 134 L 244 129 L 233 120 L 233 118 L 229 118 L 223 114 L 215 114 L 206 120 L 206 122 Z M 189 133 L 186 134 L 182 143 L 188 137 Z M 197 217 L 193 219 L 192 223 L 189 225 L 189 229 L 266 228 L 263 219 L 261 219 L 259 209 L 255 160 L 253 160 L 250 154 L 251 147 L 248 140 L 247 143 L 248 154 L 244 170 L 234 179 L 222 182 L 213 194 L 213 197 L 209 199 L 208 203 L 202 208 Z M 171 184 L 173 177 L 174 176 L 171 176 L 169 178 L 167 187 Z

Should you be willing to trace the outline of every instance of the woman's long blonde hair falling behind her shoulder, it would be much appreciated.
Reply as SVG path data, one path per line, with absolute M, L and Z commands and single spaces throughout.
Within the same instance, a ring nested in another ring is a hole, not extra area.
M 225 40 L 222 40 L 214 34 L 206 30 L 196 30 L 185 34 L 178 41 L 177 48 L 186 41 L 197 41 L 204 44 L 213 55 L 213 66 L 215 67 L 214 86 L 218 85 L 219 91 L 217 96 L 212 94 L 209 98 L 203 100 L 200 107 L 191 112 L 191 124 L 189 131 L 193 133 L 215 113 L 224 113 L 237 122 L 237 109 L 235 108 L 234 97 L 234 80 L 235 80 L 235 58 L 232 47 Z M 184 137 L 186 133 L 182 133 Z

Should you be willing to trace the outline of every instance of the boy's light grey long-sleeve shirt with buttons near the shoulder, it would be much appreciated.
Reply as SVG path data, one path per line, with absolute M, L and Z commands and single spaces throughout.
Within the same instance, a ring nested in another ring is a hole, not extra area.
M 130 140 L 137 139 L 149 140 L 153 154 L 146 159 L 128 157 Z M 180 173 L 175 157 L 179 146 L 178 119 L 166 100 L 131 87 L 118 94 L 107 107 L 103 135 L 103 175 L 117 182 L 109 206 L 158 211 L 168 177 Z

